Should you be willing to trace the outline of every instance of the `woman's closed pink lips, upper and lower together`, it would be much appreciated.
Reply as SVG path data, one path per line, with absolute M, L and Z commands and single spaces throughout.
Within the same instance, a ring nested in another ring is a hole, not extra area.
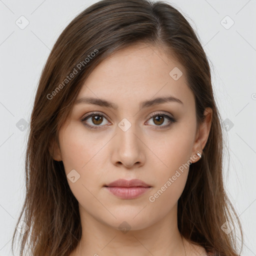
M 118 179 L 105 185 L 105 187 L 122 199 L 136 198 L 151 188 L 151 186 L 139 179 Z

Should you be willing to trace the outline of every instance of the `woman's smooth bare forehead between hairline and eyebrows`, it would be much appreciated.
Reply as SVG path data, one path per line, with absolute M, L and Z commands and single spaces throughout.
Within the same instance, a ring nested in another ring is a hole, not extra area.
M 127 107 L 170 95 L 189 105 L 193 95 L 185 76 L 184 67 L 164 48 L 135 44 L 101 61 L 87 77 L 77 99 L 98 97 Z

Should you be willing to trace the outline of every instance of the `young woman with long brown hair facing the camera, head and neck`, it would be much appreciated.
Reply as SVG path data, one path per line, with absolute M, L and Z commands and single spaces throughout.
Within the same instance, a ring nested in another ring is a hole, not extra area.
M 207 57 L 181 13 L 89 6 L 40 77 L 20 255 L 238 255 L 222 148 Z

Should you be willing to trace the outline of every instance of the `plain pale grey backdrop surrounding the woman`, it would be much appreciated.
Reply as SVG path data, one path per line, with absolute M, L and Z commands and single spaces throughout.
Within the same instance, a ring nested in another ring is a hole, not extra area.
M 41 70 L 61 31 L 93 2 L 0 0 L 0 256 L 11 255 L 24 200 L 25 124 Z M 230 155 L 228 161 L 225 154 L 225 187 L 244 230 L 241 255 L 256 255 L 256 1 L 169 2 L 197 31 L 210 60 Z

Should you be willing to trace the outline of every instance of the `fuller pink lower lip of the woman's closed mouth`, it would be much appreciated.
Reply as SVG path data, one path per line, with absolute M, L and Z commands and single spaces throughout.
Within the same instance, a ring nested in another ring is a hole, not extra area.
M 106 186 L 107 190 L 122 199 L 132 199 L 140 196 L 150 189 L 150 187 L 122 187 L 122 186 Z

